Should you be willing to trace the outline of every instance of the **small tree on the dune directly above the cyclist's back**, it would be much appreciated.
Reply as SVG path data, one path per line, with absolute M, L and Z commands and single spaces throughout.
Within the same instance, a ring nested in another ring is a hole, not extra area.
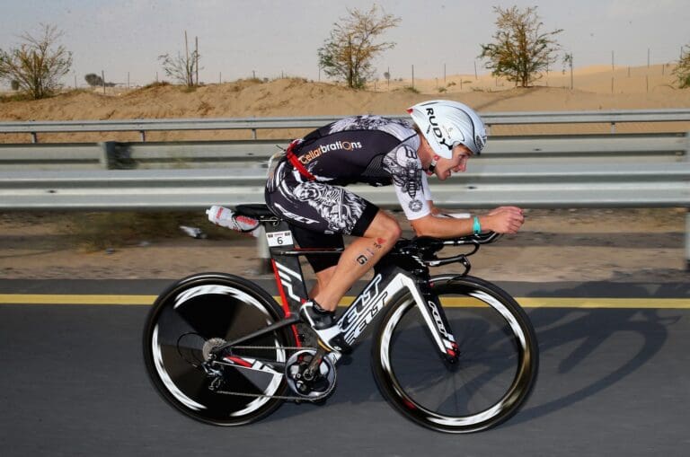
M 331 36 L 319 48 L 319 66 L 326 75 L 341 79 L 348 87 L 361 89 L 374 75 L 374 58 L 386 49 L 394 48 L 393 42 L 376 42 L 376 38 L 388 29 L 396 27 L 401 19 L 373 5 L 367 12 L 357 8 L 348 10 L 349 16 L 335 22 Z

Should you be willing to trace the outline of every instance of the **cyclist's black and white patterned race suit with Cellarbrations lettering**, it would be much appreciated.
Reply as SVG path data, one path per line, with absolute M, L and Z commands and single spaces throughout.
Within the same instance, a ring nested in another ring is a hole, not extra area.
M 281 199 L 303 202 L 320 214 L 332 213 L 333 204 L 341 202 L 339 210 L 350 220 L 329 224 L 324 233 L 351 233 L 357 222 L 351 218 L 358 218 L 363 204 L 357 201 L 358 196 L 332 186 L 355 182 L 372 186 L 393 184 L 408 219 L 429 215 L 431 194 L 417 156 L 419 146 L 420 137 L 403 120 L 380 116 L 341 119 L 314 130 L 293 145 L 293 162 L 298 163 L 286 161 L 279 165 L 268 183 L 267 202 L 273 206 L 271 202 L 276 196 L 270 194 L 279 192 Z M 309 224 L 304 214 L 301 216 L 301 221 L 293 217 L 294 221 L 305 228 L 323 229 Z

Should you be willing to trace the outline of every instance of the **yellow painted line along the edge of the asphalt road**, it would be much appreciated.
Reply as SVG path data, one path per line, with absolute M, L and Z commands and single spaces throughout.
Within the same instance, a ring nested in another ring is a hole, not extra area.
M 279 303 L 280 298 L 274 297 Z M 341 306 L 352 303 L 354 297 L 344 297 Z M 690 309 L 690 298 L 574 298 L 574 297 L 517 297 L 524 308 L 641 308 Z M 86 304 L 86 305 L 151 305 L 155 295 L 108 294 L 0 294 L 0 304 Z M 446 297 L 444 306 L 460 308 L 476 306 L 476 301 L 464 297 Z

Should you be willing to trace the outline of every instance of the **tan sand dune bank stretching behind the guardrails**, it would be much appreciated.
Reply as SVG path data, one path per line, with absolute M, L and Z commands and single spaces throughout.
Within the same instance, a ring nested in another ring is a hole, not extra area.
M 491 75 L 452 75 L 443 80 L 376 82 L 367 91 L 353 91 L 333 83 L 303 79 L 258 80 L 208 84 L 195 91 L 162 85 L 132 91 L 68 92 L 42 101 L 0 103 L 0 120 L 171 119 L 341 116 L 359 113 L 403 114 L 412 104 L 433 98 L 463 101 L 480 112 L 535 110 L 641 110 L 690 107 L 690 89 L 673 86 L 672 66 L 596 66 L 574 72 L 571 90 L 569 71 L 544 75 L 528 89 L 497 80 Z M 443 78 L 441 78 L 443 79 Z M 612 89 L 613 87 L 613 89 Z M 618 131 L 685 131 L 690 123 L 667 125 L 619 125 Z M 606 133 L 601 126 L 502 127 L 494 135 L 531 133 Z M 299 130 L 261 132 L 262 137 L 300 136 Z M 175 139 L 235 139 L 249 132 L 161 132 L 151 141 Z M 137 133 L 42 135 L 45 141 L 137 141 Z M 28 141 L 27 135 L 0 134 L 0 142 Z

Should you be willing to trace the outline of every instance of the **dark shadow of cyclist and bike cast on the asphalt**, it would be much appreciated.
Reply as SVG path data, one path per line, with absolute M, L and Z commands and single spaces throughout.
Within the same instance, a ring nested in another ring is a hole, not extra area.
M 606 288 L 606 283 L 588 283 L 571 289 L 557 292 L 562 296 L 583 296 L 597 287 Z M 632 287 L 628 287 L 631 290 Z M 673 286 L 668 286 L 673 287 Z M 668 291 L 675 296 L 687 292 L 688 286 L 678 285 L 683 290 Z M 685 292 L 684 292 L 685 291 Z M 634 296 L 652 298 L 659 294 L 650 294 L 643 287 L 631 290 Z M 544 296 L 535 292 L 536 296 Z M 682 316 L 660 316 L 654 309 L 582 309 L 582 308 L 535 308 L 527 310 L 532 321 L 540 348 L 540 374 L 535 391 L 527 400 L 516 417 L 512 417 L 504 426 L 512 426 L 543 417 L 560 409 L 596 395 L 633 374 L 659 353 L 668 339 L 668 325 Z M 452 320 L 451 320 L 451 326 Z M 376 327 L 376 323 L 371 327 Z M 490 331 L 490 330 L 487 330 Z M 613 341 L 625 334 L 633 333 L 636 344 L 625 344 Z M 491 340 L 491 335 L 488 335 Z M 606 360 L 607 353 L 615 346 L 615 360 Z M 333 396 L 327 400 L 328 405 L 349 403 L 356 407 L 359 403 L 379 403 L 385 401 L 376 389 L 376 382 L 370 369 L 370 335 L 351 358 L 349 365 L 338 368 L 338 387 Z M 602 354 L 604 353 L 604 354 Z M 616 365 L 617 364 L 617 365 Z M 512 366 L 506 364 L 506 367 Z M 491 377 L 491 374 L 486 374 Z M 483 378 L 486 380 L 486 378 Z M 488 380 L 487 380 L 488 381 Z M 299 408 L 283 408 L 273 419 L 294 417 L 297 414 L 309 413 L 314 406 L 304 405 Z M 356 414 L 353 412 L 353 414 Z M 271 420 L 268 418 L 267 420 Z

